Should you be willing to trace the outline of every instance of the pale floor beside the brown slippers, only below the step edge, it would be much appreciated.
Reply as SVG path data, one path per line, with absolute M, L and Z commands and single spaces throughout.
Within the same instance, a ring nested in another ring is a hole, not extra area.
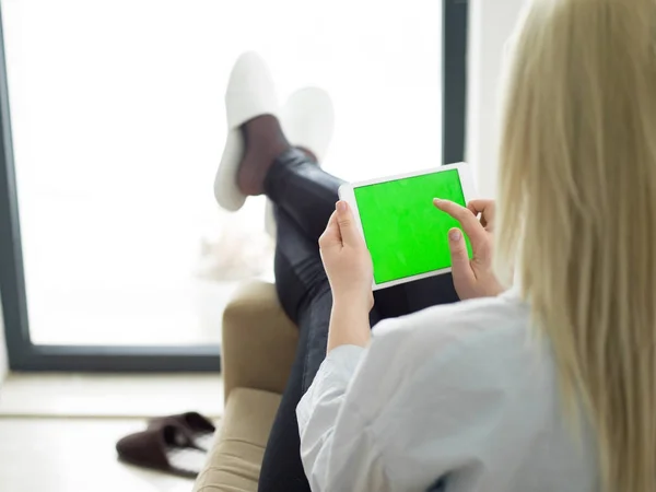
M 194 481 L 116 459 L 137 419 L 0 418 L 1 492 L 189 492 Z

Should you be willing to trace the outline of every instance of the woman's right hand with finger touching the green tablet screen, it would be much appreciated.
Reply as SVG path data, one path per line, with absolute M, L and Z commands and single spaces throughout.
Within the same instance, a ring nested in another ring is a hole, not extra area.
M 448 232 L 452 270 L 456 292 L 461 300 L 492 297 L 503 288 L 492 270 L 492 233 L 494 201 L 472 200 L 467 208 L 449 200 L 434 200 L 435 207 L 456 219 L 469 237 L 473 258 L 469 259 L 467 244 L 459 229 Z M 480 221 L 478 215 L 481 215 Z

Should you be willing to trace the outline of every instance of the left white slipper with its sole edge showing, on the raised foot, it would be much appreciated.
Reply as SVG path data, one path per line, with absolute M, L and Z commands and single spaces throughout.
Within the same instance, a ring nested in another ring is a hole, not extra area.
M 239 210 L 246 196 L 237 186 L 237 171 L 244 156 L 239 127 L 261 115 L 278 116 L 276 84 L 265 60 L 256 52 L 243 54 L 235 62 L 225 92 L 227 138 L 214 179 L 214 197 L 232 212 Z

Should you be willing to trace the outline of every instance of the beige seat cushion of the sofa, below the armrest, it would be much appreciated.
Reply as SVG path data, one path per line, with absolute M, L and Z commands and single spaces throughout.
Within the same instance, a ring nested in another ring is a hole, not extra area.
M 280 395 L 234 388 L 195 492 L 256 492 Z

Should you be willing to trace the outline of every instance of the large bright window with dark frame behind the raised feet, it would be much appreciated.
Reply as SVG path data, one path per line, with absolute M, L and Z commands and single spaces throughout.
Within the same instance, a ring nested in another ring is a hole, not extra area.
M 271 278 L 263 199 L 231 215 L 211 191 L 233 61 L 262 54 L 283 101 L 304 85 L 328 90 L 332 174 L 427 167 L 450 145 L 461 154 L 466 7 L 3 1 L 0 261 L 12 365 L 216 367 L 230 295 L 246 278 Z M 457 21 L 444 31 L 443 9 Z M 455 121 L 445 149 L 443 61 L 445 89 L 461 90 L 445 96 Z

